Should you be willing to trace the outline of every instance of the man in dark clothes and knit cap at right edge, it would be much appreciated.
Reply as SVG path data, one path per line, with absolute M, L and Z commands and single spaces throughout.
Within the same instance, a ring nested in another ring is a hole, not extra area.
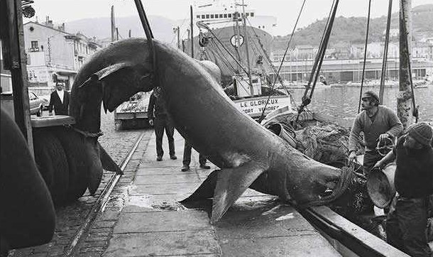
M 432 128 L 426 123 L 412 124 L 398 138 L 393 151 L 374 167 L 395 160 L 395 209 L 388 213 L 386 237 L 389 244 L 410 256 L 432 256 L 427 244 L 427 211 L 433 194 Z

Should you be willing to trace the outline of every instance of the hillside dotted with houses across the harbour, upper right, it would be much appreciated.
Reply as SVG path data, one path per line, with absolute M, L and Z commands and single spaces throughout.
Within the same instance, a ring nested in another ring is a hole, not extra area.
M 412 28 L 414 40 L 421 37 L 433 37 L 433 4 L 424 4 L 416 6 L 413 9 Z M 391 16 L 391 29 L 398 29 L 398 13 Z M 373 18 L 370 21 L 369 42 L 383 40 L 383 33 L 386 28 L 386 16 Z M 326 18 L 315 21 L 305 28 L 298 28 L 292 39 L 291 46 L 295 45 L 319 45 L 320 37 L 324 31 L 327 22 Z M 332 28 L 329 46 L 339 42 L 364 43 L 366 38 L 366 17 L 336 17 L 334 27 Z M 287 40 L 290 35 L 285 37 L 276 37 L 274 49 L 284 49 L 287 46 Z

